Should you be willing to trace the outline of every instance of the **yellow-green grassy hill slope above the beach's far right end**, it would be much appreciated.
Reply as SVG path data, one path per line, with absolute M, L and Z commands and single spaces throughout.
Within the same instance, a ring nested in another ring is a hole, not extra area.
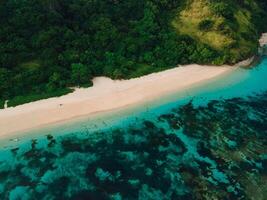
M 220 52 L 214 64 L 236 63 L 257 51 L 262 4 L 255 1 L 190 0 L 172 21 L 180 34 Z M 262 15 L 263 17 L 264 14 Z M 255 23 L 256 20 L 259 20 Z

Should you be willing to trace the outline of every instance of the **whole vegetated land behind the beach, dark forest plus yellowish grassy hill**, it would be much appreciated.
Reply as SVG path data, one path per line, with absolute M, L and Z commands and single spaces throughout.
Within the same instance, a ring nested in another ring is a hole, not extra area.
M 257 51 L 266 7 L 265 0 L 1 1 L 0 102 L 62 95 L 99 75 L 235 63 Z

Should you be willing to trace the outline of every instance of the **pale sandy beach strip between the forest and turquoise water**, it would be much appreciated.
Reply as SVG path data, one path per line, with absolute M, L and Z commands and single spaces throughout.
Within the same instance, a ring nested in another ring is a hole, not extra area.
M 250 60 L 243 62 L 247 64 Z M 231 73 L 233 66 L 180 66 L 130 80 L 93 79 L 93 87 L 0 110 L 0 137 L 95 113 L 137 105 Z

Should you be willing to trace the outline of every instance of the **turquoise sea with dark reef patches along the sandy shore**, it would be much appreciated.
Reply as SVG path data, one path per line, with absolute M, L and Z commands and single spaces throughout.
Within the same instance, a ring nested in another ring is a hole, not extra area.
M 1 141 L 0 199 L 267 199 L 267 59 Z

